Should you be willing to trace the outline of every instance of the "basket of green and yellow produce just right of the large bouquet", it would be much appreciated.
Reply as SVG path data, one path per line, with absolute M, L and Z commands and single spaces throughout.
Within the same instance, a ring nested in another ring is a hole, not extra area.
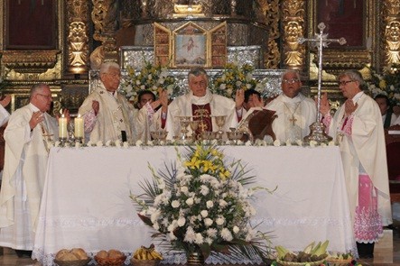
M 277 252 L 276 262 L 282 266 L 317 266 L 321 265 L 328 257 L 326 248 L 329 241 L 324 243 L 310 243 L 302 252 L 291 252 L 283 246 L 275 246 Z

